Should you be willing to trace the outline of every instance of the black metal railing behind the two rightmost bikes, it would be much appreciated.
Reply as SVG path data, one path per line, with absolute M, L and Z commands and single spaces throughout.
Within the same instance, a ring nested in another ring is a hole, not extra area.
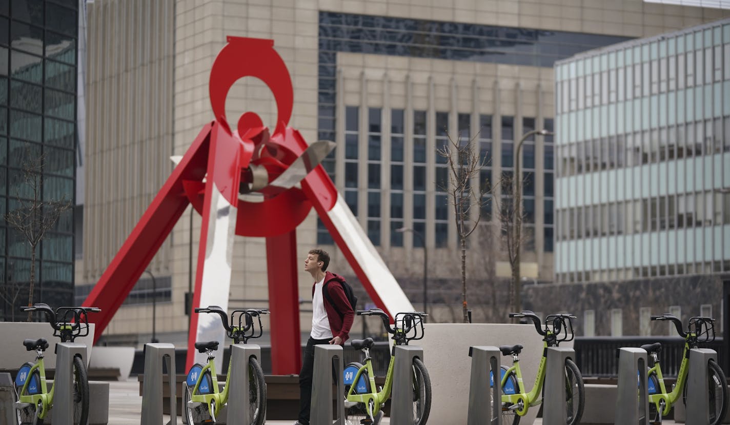
M 676 378 L 682 362 L 685 340 L 680 337 L 576 337 L 575 362 L 583 377 L 616 378 L 618 376 L 618 349 L 641 347 L 661 342 L 661 372 L 666 378 Z M 723 339 L 700 344 L 718 352 L 718 359 L 725 356 Z

